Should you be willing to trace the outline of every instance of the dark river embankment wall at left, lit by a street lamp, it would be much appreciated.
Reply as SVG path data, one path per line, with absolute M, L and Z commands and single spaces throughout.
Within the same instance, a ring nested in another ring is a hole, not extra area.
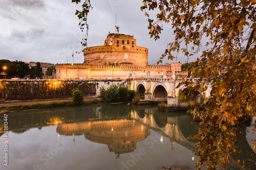
M 95 97 L 96 82 L 74 80 L 2 80 L 0 100 L 32 100 L 71 98 L 72 90 L 79 88 L 84 97 Z

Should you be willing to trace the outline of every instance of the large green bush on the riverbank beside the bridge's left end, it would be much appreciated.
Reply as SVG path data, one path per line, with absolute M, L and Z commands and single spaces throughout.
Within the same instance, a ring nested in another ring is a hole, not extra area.
M 98 98 L 104 103 L 132 101 L 135 96 L 134 90 L 129 90 L 123 85 L 111 85 L 108 89 L 100 87 L 99 92 Z

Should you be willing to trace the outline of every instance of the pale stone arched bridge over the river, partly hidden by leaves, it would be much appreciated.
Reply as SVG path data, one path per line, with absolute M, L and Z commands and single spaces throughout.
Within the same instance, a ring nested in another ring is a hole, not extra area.
M 185 78 L 190 79 L 190 78 Z M 194 83 L 198 79 L 192 79 Z M 189 99 L 180 101 L 178 98 L 179 90 L 184 90 L 185 86 L 181 85 L 179 88 L 176 88 L 179 83 L 182 83 L 181 78 L 141 78 L 133 79 L 131 81 L 131 89 L 136 91 L 136 94 L 143 96 L 145 100 L 151 101 L 167 101 L 168 106 L 187 106 Z M 203 94 L 198 94 L 195 98 L 196 103 L 200 102 L 201 96 L 204 99 L 208 98 L 210 95 L 211 87 L 207 88 Z

